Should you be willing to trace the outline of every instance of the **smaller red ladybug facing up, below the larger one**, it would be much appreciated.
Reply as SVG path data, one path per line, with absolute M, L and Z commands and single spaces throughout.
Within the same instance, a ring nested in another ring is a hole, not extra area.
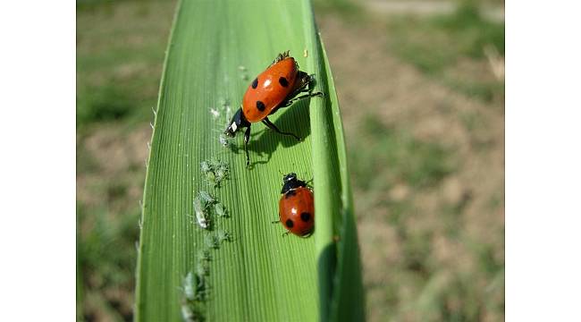
M 307 187 L 307 182 L 297 179 L 297 174 L 285 175 L 282 182 L 281 199 L 278 202 L 280 222 L 288 232 L 306 237 L 315 226 L 313 191 Z

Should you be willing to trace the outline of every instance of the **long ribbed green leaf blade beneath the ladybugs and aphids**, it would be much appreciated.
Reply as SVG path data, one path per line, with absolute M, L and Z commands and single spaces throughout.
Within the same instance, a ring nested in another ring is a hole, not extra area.
M 300 142 L 255 123 L 249 144 L 253 166 L 247 169 L 242 135 L 233 141 L 238 148 L 224 148 L 218 140 L 229 121 L 223 103 L 230 102 L 232 115 L 249 81 L 286 50 L 302 71 L 316 74 L 316 90 L 325 95 L 271 115 L 283 131 L 304 138 Z M 216 187 L 200 170 L 212 158 L 230 165 L 230 178 Z M 290 172 L 313 179 L 316 229 L 308 238 L 283 237 L 282 225 L 272 224 L 282 174 Z M 196 224 L 193 201 L 199 191 L 209 191 L 227 211 L 215 216 L 207 208 L 212 230 Z M 207 320 L 365 318 L 341 116 L 309 1 L 178 4 L 141 226 L 136 320 L 179 320 L 183 306 Z M 209 260 L 200 262 L 197 254 L 218 233 L 230 234 L 229 241 L 209 249 Z M 185 299 L 184 278 L 200 265 L 207 296 Z

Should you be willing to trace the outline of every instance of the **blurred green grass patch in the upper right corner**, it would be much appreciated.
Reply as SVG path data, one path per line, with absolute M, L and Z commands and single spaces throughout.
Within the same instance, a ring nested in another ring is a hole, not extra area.
M 457 74 L 459 64 L 487 64 L 484 47 L 504 55 L 504 24 L 485 20 L 475 2 L 447 15 L 393 17 L 388 33 L 396 55 L 451 89 L 484 102 L 504 96 L 503 80 Z

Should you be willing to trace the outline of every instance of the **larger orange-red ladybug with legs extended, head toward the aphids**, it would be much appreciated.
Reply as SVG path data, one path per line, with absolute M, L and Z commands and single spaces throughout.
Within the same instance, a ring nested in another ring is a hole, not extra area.
M 268 115 L 274 114 L 279 108 L 292 105 L 299 99 L 323 96 L 321 92 L 312 92 L 314 86 L 315 79 L 307 72 L 299 71 L 299 64 L 290 57 L 289 51 L 277 55 L 273 64 L 252 80 L 242 98 L 240 108 L 232 116 L 232 121 L 224 131 L 224 135 L 233 138 L 241 128 L 247 128 L 244 132 L 246 166 L 250 165 L 248 141 L 252 123 L 265 123 L 268 128 L 279 134 L 300 140 L 293 133 L 280 131 L 270 122 Z M 300 93 L 307 94 L 298 97 Z

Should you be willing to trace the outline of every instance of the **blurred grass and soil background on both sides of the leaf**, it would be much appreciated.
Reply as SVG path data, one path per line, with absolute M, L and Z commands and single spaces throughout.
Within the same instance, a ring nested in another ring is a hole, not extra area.
M 503 0 L 314 0 L 370 321 L 504 319 Z M 77 1 L 79 319 L 132 319 L 175 1 Z

